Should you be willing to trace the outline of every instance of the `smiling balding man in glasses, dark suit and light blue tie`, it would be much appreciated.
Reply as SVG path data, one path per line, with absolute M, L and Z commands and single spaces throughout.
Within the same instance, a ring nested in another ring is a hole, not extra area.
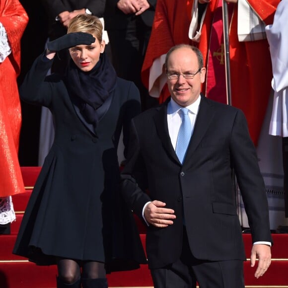
M 171 98 L 133 120 L 122 174 L 124 198 L 148 225 L 154 286 L 191 288 L 198 281 L 202 288 L 243 288 L 246 258 L 232 169 L 252 231 L 251 266 L 259 259 L 256 278 L 271 263 L 272 244 L 266 190 L 244 114 L 200 95 L 206 69 L 197 48 L 171 48 L 165 66 Z M 184 123 L 191 140 L 183 152 Z

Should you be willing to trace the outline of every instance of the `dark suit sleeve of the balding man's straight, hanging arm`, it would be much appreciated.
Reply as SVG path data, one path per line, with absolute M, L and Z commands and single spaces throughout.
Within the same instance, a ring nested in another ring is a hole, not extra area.
M 272 242 L 266 188 L 255 146 L 242 111 L 235 116 L 231 134 L 231 161 L 252 232 L 252 241 Z

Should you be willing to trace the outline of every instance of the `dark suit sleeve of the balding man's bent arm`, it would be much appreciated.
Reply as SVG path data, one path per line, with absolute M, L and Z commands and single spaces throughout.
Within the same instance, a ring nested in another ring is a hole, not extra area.
M 140 152 L 138 134 L 134 120 L 131 121 L 129 151 L 127 163 L 121 173 L 121 190 L 128 206 L 142 219 L 142 209 L 149 196 L 144 192 L 147 188 L 143 156 Z

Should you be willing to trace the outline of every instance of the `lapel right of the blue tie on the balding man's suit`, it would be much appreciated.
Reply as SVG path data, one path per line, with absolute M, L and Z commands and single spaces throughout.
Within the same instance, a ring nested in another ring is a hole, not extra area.
M 186 159 L 190 159 L 192 157 L 193 152 L 195 151 L 196 147 L 199 145 L 202 138 L 204 137 L 214 117 L 214 114 L 215 111 L 213 109 L 212 102 L 209 102 L 205 96 L 201 95 L 199 112 L 196 118 L 193 135 L 191 137 L 190 144 L 187 149 L 184 163 Z

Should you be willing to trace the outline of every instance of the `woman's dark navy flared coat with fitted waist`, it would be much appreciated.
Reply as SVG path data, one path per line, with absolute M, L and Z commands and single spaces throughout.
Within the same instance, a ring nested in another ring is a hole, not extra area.
M 108 271 L 134 268 L 146 259 L 132 213 L 120 198 L 117 146 L 122 128 L 128 143 L 130 120 L 141 109 L 139 91 L 133 82 L 117 78 L 108 109 L 93 129 L 73 105 L 63 79 L 46 77 L 52 62 L 40 55 L 20 89 L 24 101 L 51 110 L 55 140 L 13 253 L 40 265 L 55 264 L 59 256 L 120 264 L 107 266 Z

